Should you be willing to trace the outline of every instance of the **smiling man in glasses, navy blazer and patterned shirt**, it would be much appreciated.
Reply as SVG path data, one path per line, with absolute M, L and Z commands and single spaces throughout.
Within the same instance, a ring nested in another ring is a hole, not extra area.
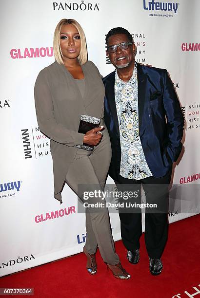
M 167 71 L 135 61 L 136 46 L 126 29 L 110 30 L 106 44 L 107 55 L 116 68 L 103 79 L 104 120 L 112 146 L 109 175 L 119 190 L 130 189 L 127 185 L 133 189 L 142 185 L 146 202 L 162 203 L 162 210 L 145 213 L 150 272 L 158 275 L 162 271 L 160 257 L 167 241 L 168 186 L 172 164 L 182 149 L 184 120 Z M 141 211 L 131 212 L 120 210 L 121 238 L 128 261 L 137 264 Z

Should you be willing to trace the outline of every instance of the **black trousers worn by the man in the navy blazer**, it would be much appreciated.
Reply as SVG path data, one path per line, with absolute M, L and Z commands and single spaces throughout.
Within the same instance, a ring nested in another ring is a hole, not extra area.
M 165 176 L 160 178 L 151 176 L 141 180 L 132 180 L 120 176 L 119 181 L 115 181 L 120 191 L 130 191 L 131 188 L 135 191 L 141 188 L 142 185 L 146 196 L 146 203 L 161 203 L 161 210 L 157 210 L 157 213 L 152 213 L 151 209 L 146 210 L 145 213 L 145 244 L 150 258 L 159 259 L 167 241 L 168 186 L 171 180 L 171 174 L 172 170 L 170 169 Z M 138 203 L 140 201 L 141 203 L 141 197 L 139 200 L 132 198 L 128 201 L 132 203 L 136 201 Z M 121 239 L 126 249 L 133 251 L 140 248 L 140 236 L 142 234 L 141 209 L 138 208 L 137 211 L 136 208 L 132 210 L 133 213 L 128 213 L 129 210 L 127 208 L 125 210 L 119 209 Z

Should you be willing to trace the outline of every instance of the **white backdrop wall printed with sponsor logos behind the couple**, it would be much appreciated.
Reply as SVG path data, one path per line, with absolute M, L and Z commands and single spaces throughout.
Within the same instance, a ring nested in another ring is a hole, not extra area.
M 10 0 L 1 4 L 0 276 L 79 253 L 86 239 L 85 215 L 77 213 L 76 195 L 65 185 L 63 204 L 53 197 L 50 140 L 39 130 L 34 104 L 36 77 L 54 62 L 53 33 L 63 18 L 80 22 L 88 59 L 102 75 L 114 70 L 105 52 L 105 35 L 113 27 L 130 31 L 138 62 L 168 70 L 185 118 L 169 222 L 199 213 L 198 11 L 199 0 Z M 113 183 L 110 177 L 107 183 Z M 116 241 L 119 215 L 110 217 Z

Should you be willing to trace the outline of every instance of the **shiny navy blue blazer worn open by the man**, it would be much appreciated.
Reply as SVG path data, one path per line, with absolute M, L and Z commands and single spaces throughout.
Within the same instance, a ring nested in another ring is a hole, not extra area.
M 154 177 L 164 176 L 182 149 L 184 118 L 179 99 L 165 69 L 138 68 L 139 133 L 147 164 Z M 115 71 L 103 78 L 105 86 L 104 120 L 109 131 L 112 159 L 109 175 L 120 174 L 120 130 L 115 104 Z

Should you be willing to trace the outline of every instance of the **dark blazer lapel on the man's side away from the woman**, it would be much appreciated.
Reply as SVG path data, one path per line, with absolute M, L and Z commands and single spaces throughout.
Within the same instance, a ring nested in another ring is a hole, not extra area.
M 142 67 L 137 63 L 138 70 L 138 110 L 139 110 L 139 131 L 141 131 L 142 116 L 144 112 L 145 93 L 146 93 L 146 75 Z

